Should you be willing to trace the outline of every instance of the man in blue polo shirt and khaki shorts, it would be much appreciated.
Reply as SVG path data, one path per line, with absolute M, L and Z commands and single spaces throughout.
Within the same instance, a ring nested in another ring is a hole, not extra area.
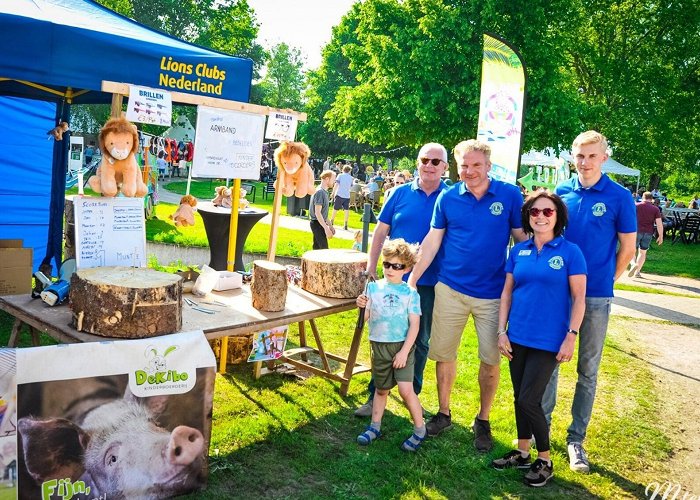
M 458 182 L 435 203 L 428 235 L 408 279 L 415 286 L 438 253 L 444 252 L 435 285 L 435 308 L 428 357 L 435 360 L 439 410 L 428 422 L 436 436 L 452 427 L 450 396 L 457 377 L 457 350 L 469 315 L 479 340 L 481 407 L 474 420 L 474 445 L 493 447 L 489 415 L 499 379 L 498 307 L 505 282 L 506 249 L 511 235 L 523 241 L 520 190 L 488 176 L 491 148 L 475 140 L 455 147 Z

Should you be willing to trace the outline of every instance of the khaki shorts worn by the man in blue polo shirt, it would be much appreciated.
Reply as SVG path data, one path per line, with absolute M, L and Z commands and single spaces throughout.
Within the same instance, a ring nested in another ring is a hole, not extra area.
M 479 359 L 487 365 L 498 365 L 501 358 L 498 352 L 500 302 L 500 299 L 477 299 L 438 282 L 435 285 L 428 357 L 434 361 L 455 361 L 462 332 L 471 314 L 479 340 Z

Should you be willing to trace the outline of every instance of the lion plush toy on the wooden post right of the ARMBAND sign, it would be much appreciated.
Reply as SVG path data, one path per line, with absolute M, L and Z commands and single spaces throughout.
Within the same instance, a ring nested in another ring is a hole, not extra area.
M 283 142 L 275 149 L 278 172 L 275 189 L 281 189 L 285 196 L 299 198 L 313 194 L 314 171 L 307 162 L 309 156 L 311 150 L 303 142 Z

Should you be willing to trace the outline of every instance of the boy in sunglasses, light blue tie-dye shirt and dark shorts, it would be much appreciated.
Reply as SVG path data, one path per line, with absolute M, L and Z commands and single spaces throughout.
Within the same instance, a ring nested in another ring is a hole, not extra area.
M 372 376 L 376 391 L 372 405 L 372 422 L 357 436 L 362 446 L 382 435 L 381 425 L 389 391 L 399 386 L 399 394 L 413 419 L 413 434 L 401 449 L 415 452 L 427 436 L 423 408 L 413 391 L 413 351 L 420 321 L 418 292 L 403 282 L 403 275 L 416 263 L 417 245 L 397 238 L 382 248 L 384 278 L 370 282 L 357 305 L 365 308 L 372 350 Z

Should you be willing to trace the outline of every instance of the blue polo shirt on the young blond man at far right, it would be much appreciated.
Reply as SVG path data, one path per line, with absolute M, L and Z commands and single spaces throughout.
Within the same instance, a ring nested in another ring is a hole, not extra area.
M 579 246 L 589 274 L 586 297 L 612 297 L 617 233 L 637 232 L 637 210 L 630 192 L 603 174 L 590 188 L 578 176 L 559 184 L 555 193 L 569 209 L 567 240 Z

